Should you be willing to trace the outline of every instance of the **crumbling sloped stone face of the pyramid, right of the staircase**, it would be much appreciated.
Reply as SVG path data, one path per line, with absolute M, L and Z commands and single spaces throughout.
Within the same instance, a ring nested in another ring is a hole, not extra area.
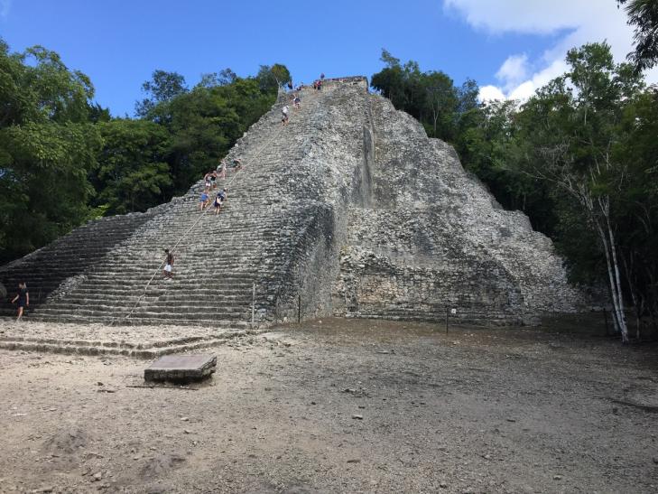
M 533 323 L 586 300 L 567 282 L 551 240 L 505 211 L 454 149 L 369 97 L 375 130 L 369 208 L 350 208 L 335 284 L 337 314 L 475 323 Z

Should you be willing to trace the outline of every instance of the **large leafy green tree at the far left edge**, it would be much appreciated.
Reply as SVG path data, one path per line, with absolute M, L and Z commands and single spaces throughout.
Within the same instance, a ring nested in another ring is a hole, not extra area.
M 94 90 L 59 55 L 0 40 L 0 260 L 42 247 L 88 218 L 87 175 L 101 144 Z

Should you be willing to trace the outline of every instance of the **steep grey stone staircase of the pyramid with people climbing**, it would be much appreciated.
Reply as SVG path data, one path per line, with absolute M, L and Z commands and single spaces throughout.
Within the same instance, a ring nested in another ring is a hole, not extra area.
M 218 215 L 199 212 L 199 181 L 145 213 L 91 221 L 1 267 L 0 280 L 10 293 L 28 282 L 37 321 L 245 327 L 252 312 L 262 321 L 277 295 L 267 282 L 292 268 L 283 251 L 294 251 L 308 227 L 287 214 L 291 198 L 303 200 L 304 191 L 282 187 L 282 177 L 294 175 L 291 163 L 304 153 L 299 135 L 330 91 L 304 89 L 301 98 L 289 125 L 281 125 L 281 107 L 290 106 L 281 98 L 231 150 L 227 159 L 239 157 L 243 169 L 218 181 L 228 189 Z M 166 247 L 175 256 L 171 280 L 161 275 Z M 15 306 L 0 311 L 14 314 Z

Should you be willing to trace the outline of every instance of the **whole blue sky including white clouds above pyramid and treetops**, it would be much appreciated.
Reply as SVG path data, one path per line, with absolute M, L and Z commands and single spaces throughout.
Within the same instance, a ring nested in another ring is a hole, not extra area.
M 247 76 L 275 62 L 285 64 L 296 81 L 310 82 L 321 71 L 328 77 L 370 77 L 382 68 L 382 48 L 403 61 L 418 61 L 422 70 L 443 70 L 457 83 L 476 79 L 485 96 L 523 98 L 558 75 L 570 43 L 610 42 L 612 35 L 616 54 L 626 54 L 630 31 L 614 5 L 614 0 L 0 0 L 0 36 L 12 51 L 41 44 L 60 53 L 70 69 L 88 74 L 97 101 L 114 115 L 133 115 L 141 85 L 156 69 L 178 71 L 189 85 L 201 73 L 229 67 Z

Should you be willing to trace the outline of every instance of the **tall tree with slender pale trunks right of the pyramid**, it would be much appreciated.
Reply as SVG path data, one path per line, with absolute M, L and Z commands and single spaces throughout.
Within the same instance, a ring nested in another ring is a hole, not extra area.
M 523 107 L 523 170 L 555 184 L 582 207 L 607 263 L 617 330 L 628 340 L 621 259 L 613 205 L 624 187 L 623 163 L 613 147 L 625 102 L 642 89 L 628 64 L 615 65 L 606 43 L 590 43 L 567 54 L 570 71 L 540 89 Z

